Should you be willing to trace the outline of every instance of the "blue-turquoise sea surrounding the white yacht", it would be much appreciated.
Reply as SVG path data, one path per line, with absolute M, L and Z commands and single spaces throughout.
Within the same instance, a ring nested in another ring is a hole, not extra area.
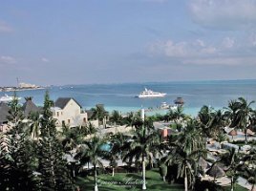
M 156 98 L 136 97 L 144 88 L 167 93 L 167 95 Z M 122 113 L 139 111 L 141 108 L 156 108 L 161 102 L 174 104 L 173 101 L 178 96 L 185 101 L 184 113 L 191 116 L 196 116 L 203 105 L 222 109 L 227 106 L 229 100 L 240 96 L 248 101 L 256 100 L 256 80 L 66 85 L 53 86 L 48 90 L 53 100 L 57 97 L 74 97 L 84 109 L 91 109 L 97 103 L 101 103 L 109 112 L 117 110 Z M 17 95 L 32 96 L 35 104 L 43 105 L 45 91 L 45 89 L 19 91 Z M 13 95 L 11 92 L 2 92 L 0 96 L 5 94 Z M 22 98 L 21 103 L 24 101 L 25 99 Z M 153 113 L 164 114 L 166 111 Z

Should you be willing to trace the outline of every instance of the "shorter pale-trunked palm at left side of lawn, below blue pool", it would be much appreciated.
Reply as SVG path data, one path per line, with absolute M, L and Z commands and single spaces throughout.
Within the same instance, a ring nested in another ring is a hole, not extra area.
M 96 165 L 103 166 L 100 161 L 102 156 L 102 144 L 103 140 L 101 138 L 93 137 L 90 141 L 85 141 L 79 148 L 75 158 L 80 159 L 82 165 L 85 162 L 90 161 L 94 166 L 94 179 L 95 179 L 95 191 L 97 191 L 97 182 L 96 182 Z

